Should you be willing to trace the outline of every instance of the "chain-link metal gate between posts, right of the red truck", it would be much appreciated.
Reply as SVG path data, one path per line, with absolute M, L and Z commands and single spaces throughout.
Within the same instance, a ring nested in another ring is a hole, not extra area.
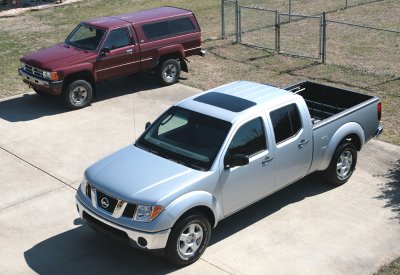
M 321 16 L 279 13 L 260 6 L 221 0 L 221 35 L 235 42 L 325 62 L 326 20 Z

